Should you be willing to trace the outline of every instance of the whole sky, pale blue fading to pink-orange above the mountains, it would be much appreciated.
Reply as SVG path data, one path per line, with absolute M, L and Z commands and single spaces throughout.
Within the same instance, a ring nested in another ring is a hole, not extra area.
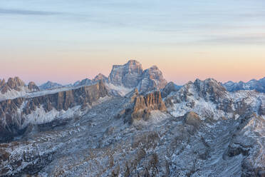
M 179 85 L 261 79 L 265 1 L 0 1 L 0 79 L 69 84 L 129 59 Z

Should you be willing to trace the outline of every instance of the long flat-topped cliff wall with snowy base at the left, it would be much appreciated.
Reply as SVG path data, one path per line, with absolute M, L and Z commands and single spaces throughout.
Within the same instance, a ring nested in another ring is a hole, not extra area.
M 46 123 L 41 120 L 40 113 L 34 115 L 34 121 L 29 120 L 29 115 L 36 111 L 43 110 L 43 113 L 50 111 L 68 111 L 69 108 L 80 106 L 91 106 L 93 102 L 108 95 L 102 81 L 93 86 L 83 86 L 69 91 L 36 96 L 33 98 L 14 98 L 0 102 L 0 141 L 6 141 L 21 134 L 28 123 Z M 52 121 L 54 118 L 51 118 Z M 39 119 L 39 120 L 38 120 Z

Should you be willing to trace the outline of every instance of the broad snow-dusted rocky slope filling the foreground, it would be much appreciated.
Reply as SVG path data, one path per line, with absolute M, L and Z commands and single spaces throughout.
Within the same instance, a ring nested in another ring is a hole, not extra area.
M 203 95 L 208 102 L 212 94 Z M 33 126 L 18 141 L 0 144 L 2 175 L 264 174 L 264 118 L 246 113 L 237 119 L 204 120 L 192 112 L 175 117 L 152 111 L 149 120 L 129 124 L 117 115 L 130 103 L 131 98 L 113 97 L 83 116 L 56 126 Z

